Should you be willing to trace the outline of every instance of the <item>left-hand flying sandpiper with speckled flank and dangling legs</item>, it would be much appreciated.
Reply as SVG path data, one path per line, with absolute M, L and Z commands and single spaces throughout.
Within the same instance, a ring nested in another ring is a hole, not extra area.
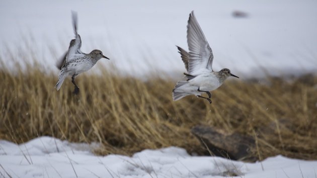
M 65 53 L 64 57 L 60 60 L 57 67 L 60 69 L 58 75 L 58 81 L 56 83 L 56 90 L 58 91 L 60 86 L 63 84 L 64 79 L 67 76 L 71 76 L 71 82 L 75 85 L 73 91 L 74 94 L 78 94 L 79 87 L 75 82 L 75 77 L 87 70 L 91 69 L 96 62 L 101 58 L 107 58 L 98 49 L 93 50 L 89 54 L 83 53 L 81 51 L 82 40 L 81 36 L 77 33 L 77 13 L 72 12 L 72 25 L 75 33 L 75 39 L 70 41 L 68 51 Z

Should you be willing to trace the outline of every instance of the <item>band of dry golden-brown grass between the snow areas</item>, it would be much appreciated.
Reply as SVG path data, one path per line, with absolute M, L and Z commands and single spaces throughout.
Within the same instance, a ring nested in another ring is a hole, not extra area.
M 81 92 L 74 96 L 70 79 L 57 92 L 57 74 L 27 68 L 14 74 L 0 70 L 0 139 L 22 143 L 49 135 L 94 141 L 103 145 L 99 154 L 171 145 L 203 154 L 190 129 L 205 124 L 253 136 L 259 159 L 276 154 L 317 159 L 317 77 L 229 80 L 212 93 L 209 105 L 195 97 L 173 102 L 172 79 L 82 74 L 76 78 Z

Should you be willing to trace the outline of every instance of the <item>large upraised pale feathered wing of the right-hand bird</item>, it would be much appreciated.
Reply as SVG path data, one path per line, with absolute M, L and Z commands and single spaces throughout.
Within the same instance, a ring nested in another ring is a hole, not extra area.
M 198 75 L 212 71 L 212 50 L 194 16 L 194 11 L 189 15 L 187 43 L 189 49 L 188 73 Z

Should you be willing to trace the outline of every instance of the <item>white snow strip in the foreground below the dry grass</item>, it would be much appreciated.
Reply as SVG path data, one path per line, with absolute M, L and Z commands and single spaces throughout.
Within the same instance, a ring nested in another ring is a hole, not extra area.
M 0 177 L 316 177 L 317 160 L 281 155 L 245 163 L 192 156 L 185 149 L 143 150 L 133 156 L 96 156 L 97 143 L 38 137 L 24 144 L 0 140 Z M 263 169 L 262 169 L 263 167 Z

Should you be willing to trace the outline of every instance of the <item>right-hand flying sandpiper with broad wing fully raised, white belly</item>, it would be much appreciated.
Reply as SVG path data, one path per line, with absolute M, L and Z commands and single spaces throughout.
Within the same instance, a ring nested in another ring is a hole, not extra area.
M 173 90 L 173 100 L 195 95 L 211 104 L 210 91 L 216 90 L 227 77 L 237 76 L 230 73 L 227 68 L 218 72 L 212 70 L 212 50 L 194 16 L 194 11 L 189 15 L 187 43 L 189 52 L 177 46 L 187 70 L 187 73 L 184 73 L 187 80 L 177 82 Z M 203 93 L 206 93 L 208 98 L 202 97 Z

